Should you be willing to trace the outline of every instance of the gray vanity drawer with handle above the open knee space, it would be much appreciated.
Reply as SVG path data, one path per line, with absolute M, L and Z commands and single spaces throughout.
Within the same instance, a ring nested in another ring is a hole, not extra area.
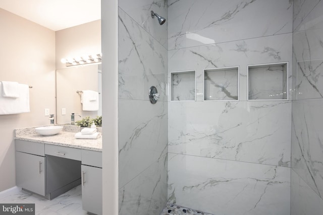
M 81 150 L 70 148 L 70 147 L 61 147 L 61 146 L 46 144 L 45 154 L 81 161 Z

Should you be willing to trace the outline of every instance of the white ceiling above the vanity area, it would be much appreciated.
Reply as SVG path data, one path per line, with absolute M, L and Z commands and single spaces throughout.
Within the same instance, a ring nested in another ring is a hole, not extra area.
M 101 0 L 0 0 L 0 8 L 53 31 L 101 19 Z

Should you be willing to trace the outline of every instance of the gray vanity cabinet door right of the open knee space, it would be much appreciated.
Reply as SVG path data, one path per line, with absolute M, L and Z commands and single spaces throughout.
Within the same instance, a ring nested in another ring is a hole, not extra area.
M 102 169 L 82 165 L 82 206 L 95 214 L 102 214 Z

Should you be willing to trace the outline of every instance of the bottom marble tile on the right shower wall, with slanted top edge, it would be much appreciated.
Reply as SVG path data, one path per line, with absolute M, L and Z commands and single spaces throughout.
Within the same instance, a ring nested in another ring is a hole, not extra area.
M 323 211 L 323 199 L 310 188 L 297 173 L 291 175 L 291 214 L 320 215 Z

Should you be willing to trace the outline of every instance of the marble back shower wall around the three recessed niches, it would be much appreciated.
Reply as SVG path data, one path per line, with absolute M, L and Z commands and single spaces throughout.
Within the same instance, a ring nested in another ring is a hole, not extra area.
M 196 70 L 196 101 L 169 96 L 168 200 L 220 215 L 290 214 L 292 90 L 289 100 L 248 101 L 247 66 L 289 62 L 291 86 L 293 2 L 168 7 L 169 74 Z M 238 100 L 203 101 L 203 69 L 232 66 Z

